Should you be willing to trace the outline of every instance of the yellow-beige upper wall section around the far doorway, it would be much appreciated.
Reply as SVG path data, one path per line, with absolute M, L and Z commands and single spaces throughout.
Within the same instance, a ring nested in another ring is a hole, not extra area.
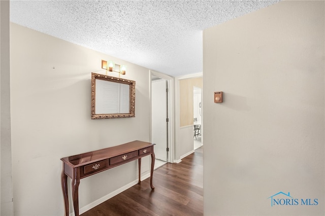
M 193 125 L 193 87 L 202 89 L 202 77 L 179 81 L 180 91 L 180 127 Z

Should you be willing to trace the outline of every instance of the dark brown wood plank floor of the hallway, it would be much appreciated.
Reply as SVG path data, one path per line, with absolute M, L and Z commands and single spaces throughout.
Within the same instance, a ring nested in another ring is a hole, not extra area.
M 82 216 L 203 215 L 203 147 L 176 164 L 165 164 L 140 185 L 123 191 Z

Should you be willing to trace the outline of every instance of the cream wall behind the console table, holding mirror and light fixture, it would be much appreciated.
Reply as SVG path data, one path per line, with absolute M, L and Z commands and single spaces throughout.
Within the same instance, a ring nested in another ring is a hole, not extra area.
M 17 24 L 10 27 L 14 213 L 63 215 L 60 158 L 150 141 L 149 69 Z M 135 118 L 91 120 L 90 77 L 105 74 L 102 59 L 126 64 L 123 77 L 136 81 Z M 81 179 L 80 208 L 135 181 L 137 164 Z M 142 164 L 147 173 L 149 157 Z

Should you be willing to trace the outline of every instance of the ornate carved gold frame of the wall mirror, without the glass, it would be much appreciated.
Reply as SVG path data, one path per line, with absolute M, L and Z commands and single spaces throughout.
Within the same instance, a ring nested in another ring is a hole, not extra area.
M 96 114 L 95 101 L 96 101 L 96 80 L 103 80 L 107 82 L 121 83 L 129 85 L 129 113 L 120 114 Z M 123 78 L 110 77 L 107 75 L 91 73 L 91 119 L 113 119 L 113 118 L 128 118 L 135 117 L 136 107 L 136 81 L 126 80 Z

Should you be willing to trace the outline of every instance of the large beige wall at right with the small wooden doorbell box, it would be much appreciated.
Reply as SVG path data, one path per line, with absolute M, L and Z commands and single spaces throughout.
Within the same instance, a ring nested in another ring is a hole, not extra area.
M 324 9 L 282 1 L 204 31 L 205 215 L 325 214 Z M 299 204 L 271 207 L 278 192 Z

